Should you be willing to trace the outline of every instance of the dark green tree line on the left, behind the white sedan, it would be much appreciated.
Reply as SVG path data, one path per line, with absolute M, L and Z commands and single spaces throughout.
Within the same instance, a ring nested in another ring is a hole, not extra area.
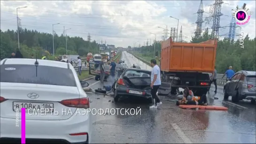
M 19 28 L 20 49 L 24 58 L 30 58 L 37 52 L 41 57 L 45 54 L 48 59 L 54 59 L 53 35 L 37 30 Z M 14 30 L 0 30 L 0 58 L 4 59 L 18 48 L 17 32 Z M 99 53 L 99 44 L 94 40 L 89 42 L 80 37 L 67 37 L 68 54 L 86 56 L 87 53 Z M 66 54 L 66 37 L 54 35 L 54 56 Z

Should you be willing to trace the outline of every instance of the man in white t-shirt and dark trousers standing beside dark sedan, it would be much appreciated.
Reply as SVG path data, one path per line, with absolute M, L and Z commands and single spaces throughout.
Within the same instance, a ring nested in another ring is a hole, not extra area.
M 151 96 L 153 99 L 153 106 L 150 106 L 149 108 L 157 108 L 157 106 L 160 106 L 162 104 L 162 102 L 156 95 L 158 88 L 161 85 L 161 77 L 160 77 L 161 73 L 160 73 L 160 68 L 156 64 L 156 60 L 152 59 L 150 62 L 151 62 L 150 65 L 153 67 L 151 72 L 151 84 L 150 84 Z

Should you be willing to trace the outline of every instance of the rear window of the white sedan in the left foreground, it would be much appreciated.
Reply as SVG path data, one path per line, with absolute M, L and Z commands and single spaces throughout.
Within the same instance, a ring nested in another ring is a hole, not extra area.
M 8 70 L 12 69 L 12 70 Z M 35 65 L 1 65 L 0 82 L 77 86 L 71 69 Z

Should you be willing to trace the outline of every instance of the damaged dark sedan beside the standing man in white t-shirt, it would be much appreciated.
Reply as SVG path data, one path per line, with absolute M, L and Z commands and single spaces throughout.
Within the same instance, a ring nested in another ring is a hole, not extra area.
M 151 71 L 126 68 L 121 76 L 112 85 L 114 101 L 122 96 L 140 97 L 152 101 L 150 93 Z

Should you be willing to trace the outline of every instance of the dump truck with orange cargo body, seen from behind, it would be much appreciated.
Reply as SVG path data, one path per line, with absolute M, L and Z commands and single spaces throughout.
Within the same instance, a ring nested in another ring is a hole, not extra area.
M 171 38 L 162 42 L 161 78 L 171 82 L 171 93 L 188 87 L 194 95 L 206 94 L 209 74 L 215 68 L 217 40 L 202 43 L 176 43 Z

